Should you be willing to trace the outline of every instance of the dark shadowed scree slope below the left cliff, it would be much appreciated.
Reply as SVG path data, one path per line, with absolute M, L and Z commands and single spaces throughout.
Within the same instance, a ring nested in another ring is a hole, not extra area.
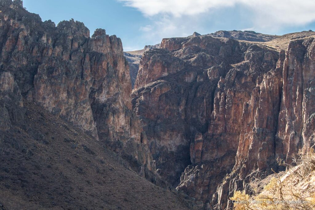
M 83 132 L 33 103 L 22 109 L 23 123 L 0 131 L 2 209 L 190 209 Z

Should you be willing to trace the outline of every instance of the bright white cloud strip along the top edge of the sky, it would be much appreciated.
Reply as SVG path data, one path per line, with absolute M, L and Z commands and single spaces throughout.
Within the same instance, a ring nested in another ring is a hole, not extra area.
M 138 9 L 146 16 L 168 14 L 173 17 L 198 15 L 211 10 L 240 4 L 255 13 L 255 23 L 307 24 L 315 20 L 314 0 L 118 0 Z

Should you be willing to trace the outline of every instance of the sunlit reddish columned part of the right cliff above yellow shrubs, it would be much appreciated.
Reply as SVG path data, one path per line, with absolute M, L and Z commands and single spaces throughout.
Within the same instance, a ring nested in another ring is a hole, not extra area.
M 315 39 L 311 35 L 289 42 L 287 51 L 280 52 L 277 68 L 257 86 L 259 98 L 251 98 L 244 105 L 245 123 L 236 164 L 226 179 L 229 185 L 221 193 L 224 199 L 214 199 L 216 208 L 230 208 L 226 197 L 235 190 L 249 191 L 249 180 L 266 177 L 272 173 L 271 168 L 281 170 L 277 158 L 289 164 L 300 149 L 307 152 L 314 148 L 314 108 L 310 103 L 314 94 Z M 256 89 L 254 97 L 258 96 Z

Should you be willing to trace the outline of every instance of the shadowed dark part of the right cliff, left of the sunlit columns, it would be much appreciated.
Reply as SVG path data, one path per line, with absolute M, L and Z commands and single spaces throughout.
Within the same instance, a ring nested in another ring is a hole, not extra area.
M 161 48 L 143 55 L 135 83 L 138 89 L 133 92 L 134 109 L 145 126 L 159 175 L 177 186 L 180 174 L 192 163 L 208 175 L 196 177 L 189 168 L 179 189 L 200 192 L 195 185 L 203 185 L 203 179 L 219 176 L 220 182 L 232 170 L 243 103 L 261 72 L 275 67 L 278 53 L 210 36 L 164 39 Z M 224 165 L 218 161 L 228 166 L 215 173 L 209 166 Z M 207 165 L 202 166 L 204 162 Z M 191 195 L 203 199 L 216 190 L 210 188 L 206 184 L 202 195 Z

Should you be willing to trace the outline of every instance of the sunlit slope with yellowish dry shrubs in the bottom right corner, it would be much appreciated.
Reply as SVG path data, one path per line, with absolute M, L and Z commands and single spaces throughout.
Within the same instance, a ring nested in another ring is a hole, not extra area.
M 288 167 L 284 175 L 276 174 L 257 195 L 235 192 L 231 198 L 235 210 L 315 209 L 314 150 L 294 158 L 293 164 Z

